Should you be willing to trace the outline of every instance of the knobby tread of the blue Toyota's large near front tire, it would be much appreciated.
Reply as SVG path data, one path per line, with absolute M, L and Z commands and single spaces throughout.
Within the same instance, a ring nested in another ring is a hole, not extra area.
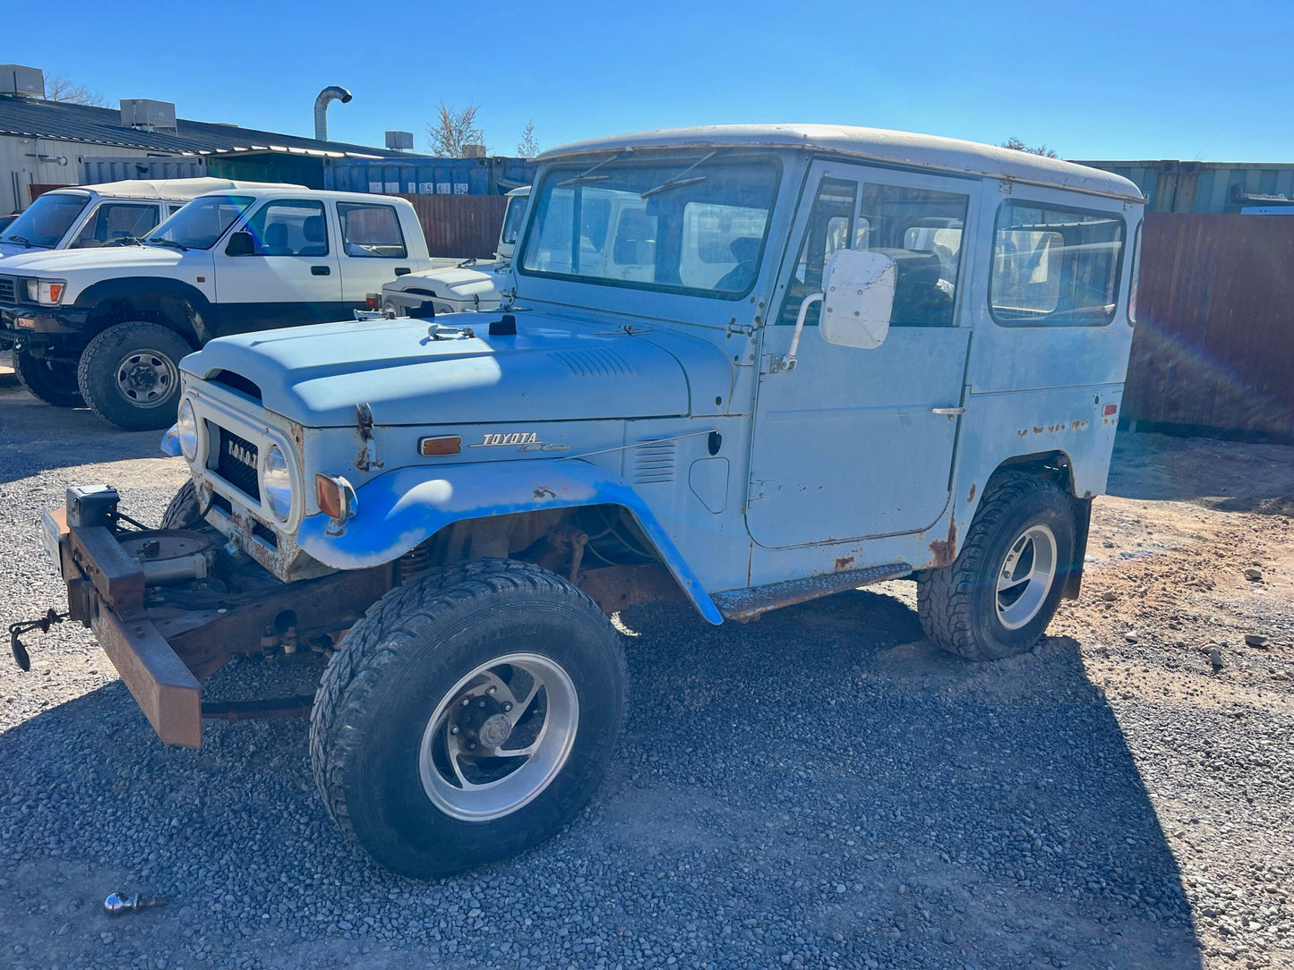
M 510 591 L 565 598 L 602 612 L 573 583 L 537 565 L 474 559 L 441 566 L 392 588 L 369 607 L 329 661 L 311 713 L 311 767 L 329 817 L 352 841 L 357 835 L 345 804 L 344 779 L 349 763 L 358 757 L 360 737 L 347 726 L 370 705 L 382 667 L 395 660 L 402 641 L 422 629 Z M 615 657 L 621 683 L 628 685 L 624 651 L 616 651 Z

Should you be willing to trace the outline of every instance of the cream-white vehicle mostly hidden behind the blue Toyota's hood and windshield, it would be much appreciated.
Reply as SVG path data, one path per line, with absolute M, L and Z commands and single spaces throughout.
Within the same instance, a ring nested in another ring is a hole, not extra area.
M 525 224 L 525 204 L 531 186 L 523 185 L 507 194 L 503 228 L 493 263 L 479 260 L 432 260 L 432 269 L 410 273 L 388 281 L 382 287 L 382 309 L 404 317 L 410 312 L 426 314 L 430 303 L 433 313 L 497 310 L 502 292 L 512 279 L 512 250 Z

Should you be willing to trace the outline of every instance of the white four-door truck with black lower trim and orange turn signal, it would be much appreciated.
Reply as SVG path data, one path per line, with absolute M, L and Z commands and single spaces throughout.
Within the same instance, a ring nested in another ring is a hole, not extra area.
M 0 349 L 50 404 L 175 422 L 180 358 L 250 330 L 348 319 L 428 269 L 406 199 L 276 185 L 202 195 L 145 239 L 0 261 Z

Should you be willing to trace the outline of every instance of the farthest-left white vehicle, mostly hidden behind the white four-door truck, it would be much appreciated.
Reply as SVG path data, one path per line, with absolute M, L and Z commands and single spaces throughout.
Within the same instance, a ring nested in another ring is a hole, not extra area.
M 53 189 L 0 229 L 0 257 L 119 244 L 148 235 L 199 195 L 268 188 L 282 186 L 229 178 L 129 178 Z

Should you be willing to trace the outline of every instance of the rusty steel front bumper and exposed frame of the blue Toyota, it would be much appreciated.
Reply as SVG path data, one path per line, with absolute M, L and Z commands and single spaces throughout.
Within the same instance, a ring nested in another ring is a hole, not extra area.
M 224 569 L 230 588 L 201 608 L 177 605 L 150 585 L 140 561 L 104 526 L 67 526 L 65 508 L 44 517 L 45 547 L 67 587 L 71 620 L 94 631 L 144 715 L 167 744 L 202 746 L 202 680 L 236 654 L 331 643 L 391 588 L 392 570 L 361 569 L 296 583 Z M 219 714 L 215 717 L 226 717 Z

